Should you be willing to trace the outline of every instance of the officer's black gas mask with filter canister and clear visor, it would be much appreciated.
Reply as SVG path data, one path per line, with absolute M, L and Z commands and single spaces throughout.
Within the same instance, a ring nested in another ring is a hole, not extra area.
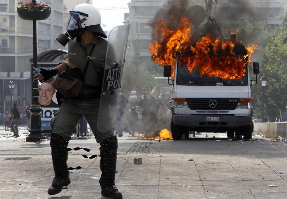
M 70 11 L 69 17 L 67 19 L 67 25 L 65 30 L 67 32 L 61 33 L 58 37 L 56 37 L 56 40 L 62 45 L 66 46 L 66 44 L 69 42 L 69 38 L 73 40 L 74 38 L 77 38 L 77 42 L 80 42 L 81 36 L 85 32 L 86 24 L 83 23 L 87 20 L 88 14 L 78 12 L 78 11 Z

